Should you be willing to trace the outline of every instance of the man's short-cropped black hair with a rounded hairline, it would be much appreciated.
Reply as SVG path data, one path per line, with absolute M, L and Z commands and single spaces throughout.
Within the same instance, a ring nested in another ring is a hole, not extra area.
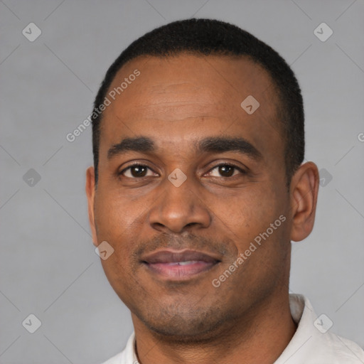
M 294 72 L 276 50 L 252 34 L 225 21 L 205 18 L 188 18 L 155 28 L 131 43 L 107 70 L 92 112 L 95 185 L 102 121 L 102 113 L 95 110 L 104 102 L 115 75 L 125 63 L 141 55 L 166 58 L 180 53 L 245 56 L 269 73 L 281 101 L 277 105 L 277 115 L 283 125 L 281 134 L 285 143 L 284 161 L 289 187 L 291 176 L 304 161 L 304 103 Z

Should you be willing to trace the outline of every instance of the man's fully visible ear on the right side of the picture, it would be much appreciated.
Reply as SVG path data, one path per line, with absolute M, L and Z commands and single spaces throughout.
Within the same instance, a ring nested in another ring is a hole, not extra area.
M 319 181 L 313 162 L 302 164 L 291 179 L 291 240 L 295 242 L 304 240 L 314 228 Z

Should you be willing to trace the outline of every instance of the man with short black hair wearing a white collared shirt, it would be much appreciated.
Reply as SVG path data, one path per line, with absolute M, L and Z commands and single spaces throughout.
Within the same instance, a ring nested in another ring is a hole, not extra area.
M 92 118 L 93 242 L 134 325 L 107 364 L 364 363 L 289 294 L 319 173 L 277 52 L 222 21 L 169 23 L 115 60 Z

